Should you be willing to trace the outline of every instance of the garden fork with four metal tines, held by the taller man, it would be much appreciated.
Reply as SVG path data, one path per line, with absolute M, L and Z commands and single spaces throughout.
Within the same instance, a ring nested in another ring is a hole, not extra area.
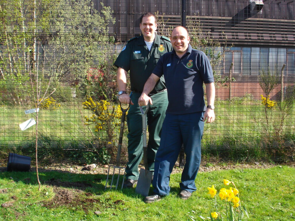
M 131 100 L 130 100 L 131 103 Z M 124 132 L 124 125 L 125 125 L 125 116 L 126 116 L 126 112 L 130 107 L 130 103 L 128 105 L 128 107 L 126 109 L 122 108 L 121 106 L 121 102 L 120 102 L 120 108 L 122 110 L 122 116 L 121 116 L 121 126 L 120 126 L 120 135 L 119 135 L 119 142 L 118 142 L 118 150 L 117 150 L 117 158 L 116 158 L 116 165 L 109 165 L 109 170 L 108 170 L 108 175 L 106 176 L 106 186 L 108 184 L 108 180 L 109 180 L 109 172 L 110 172 L 110 168 L 113 168 L 113 176 L 112 176 L 112 181 L 111 181 L 111 185 L 110 185 L 110 190 L 112 189 L 112 185 L 113 185 L 113 181 L 114 181 L 114 175 L 115 175 L 115 170 L 119 169 L 119 174 L 118 174 L 118 178 L 117 178 L 117 183 L 116 183 L 116 189 L 118 187 L 118 183 L 119 183 L 119 177 L 120 177 L 120 172 L 121 170 L 124 170 L 124 176 L 123 176 L 123 182 L 122 182 L 122 187 L 123 188 L 123 183 L 124 183 L 124 179 L 125 179 L 125 167 L 119 166 L 120 165 L 120 156 L 121 156 L 121 148 L 122 148 L 122 141 L 123 141 L 123 132 Z M 106 186 L 104 187 L 104 189 L 106 189 Z

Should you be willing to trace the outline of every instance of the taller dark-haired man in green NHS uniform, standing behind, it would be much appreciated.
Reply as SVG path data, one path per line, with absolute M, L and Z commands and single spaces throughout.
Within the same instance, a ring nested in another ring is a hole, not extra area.
M 157 29 L 156 17 L 152 13 L 140 17 L 142 35 L 127 42 L 119 54 L 114 65 L 118 67 L 117 85 L 121 103 L 131 102 L 127 115 L 128 126 L 128 163 L 126 166 L 126 180 L 124 188 L 131 188 L 137 183 L 139 176 L 138 165 L 142 159 L 142 116 L 138 106 L 144 84 L 151 75 L 159 58 L 166 52 L 172 51 L 170 39 L 155 33 Z M 126 76 L 130 74 L 132 93 L 126 93 Z M 154 171 L 155 155 L 160 145 L 162 123 L 168 105 L 167 90 L 164 78 L 161 77 L 150 93 L 153 105 L 147 113 L 148 123 L 148 169 Z

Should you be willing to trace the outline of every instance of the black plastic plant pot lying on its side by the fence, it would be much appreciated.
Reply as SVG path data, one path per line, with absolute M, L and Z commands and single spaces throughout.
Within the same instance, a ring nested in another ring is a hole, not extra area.
M 29 171 L 31 157 L 9 153 L 7 171 Z

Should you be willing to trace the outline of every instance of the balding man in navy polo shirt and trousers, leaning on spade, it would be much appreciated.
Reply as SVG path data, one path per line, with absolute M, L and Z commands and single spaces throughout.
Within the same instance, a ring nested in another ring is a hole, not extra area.
M 162 127 L 160 147 L 155 159 L 154 192 L 145 202 L 159 201 L 170 191 L 169 180 L 183 144 L 186 153 L 179 197 L 188 199 L 196 191 L 194 183 L 201 161 L 201 138 L 204 121 L 215 119 L 215 87 L 212 68 L 204 52 L 192 49 L 186 28 L 178 26 L 171 32 L 172 52 L 165 53 L 145 83 L 139 105 L 146 105 L 155 84 L 164 75 L 168 108 Z M 206 87 L 207 107 L 203 83 Z

